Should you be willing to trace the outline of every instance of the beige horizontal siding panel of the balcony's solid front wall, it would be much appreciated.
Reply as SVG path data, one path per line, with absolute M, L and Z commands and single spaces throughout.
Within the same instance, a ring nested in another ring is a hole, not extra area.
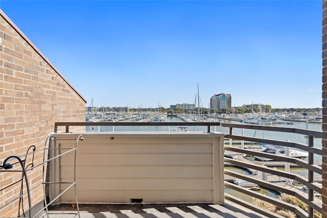
M 223 164 L 214 167 L 213 160 L 214 142 L 220 143 L 217 142 L 219 135 L 196 133 L 186 137 L 182 134 L 125 133 L 83 136 L 85 140 L 78 143 L 76 159 L 80 203 L 129 203 L 131 198 L 142 198 L 144 202 L 223 201 L 213 194 L 217 184 L 223 185 L 223 177 L 219 176 L 214 186 L 214 175 L 223 175 Z M 74 148 L 72 142 L 59 140 L 57 146 Z M 222 160 L 222 149 L 219 157 Z M 74 153 L 62 156 L 58 167 L 61 182 L 73 181 Z M 58 190 L 65 187 L 66 184 L 61 184 Z M 61 202 L 74 202 L 74 198 L 74 191 L 68 191 L 61 197 Z

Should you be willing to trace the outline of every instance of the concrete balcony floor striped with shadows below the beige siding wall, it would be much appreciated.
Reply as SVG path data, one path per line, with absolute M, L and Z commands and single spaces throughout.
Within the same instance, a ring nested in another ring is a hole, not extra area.
M 74 217 L 76 208 L 72 204 L 52 206 L 49 217 Z M 238 217 L 264 218 L 262 214 L 254 212 L 241 205 L 225 200 L 224 205 L 211 203 L 185 204 L 79 204 L 82 218 L 183 218 L 183 217 Z M 71 214 L 69 214 L 71 213 Z M 46 217 L 43 214 L 41 217 Z M 78 215 L 76 216 L 78 217 Z

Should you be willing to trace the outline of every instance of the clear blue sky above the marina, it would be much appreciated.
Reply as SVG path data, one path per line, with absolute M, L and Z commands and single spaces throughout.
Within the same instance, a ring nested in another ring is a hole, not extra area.
M 321 107 L 322 1 L 6 1 L 89 106 Z

